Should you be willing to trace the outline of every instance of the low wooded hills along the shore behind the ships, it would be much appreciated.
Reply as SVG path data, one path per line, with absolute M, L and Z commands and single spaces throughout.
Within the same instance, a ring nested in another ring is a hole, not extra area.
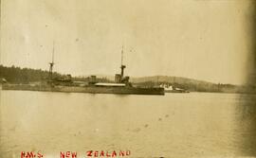
M 54 73 L 56 77 L 64 77 L 66 74 Z M 0 65 L 0 79 L 5 79 L 8 83 L 33 83 L 46 80 L 48 76 L 47 70 L 20 68 L 17 66 Z M 99 75 L 98 80 L 101 82 L 113 82 L 113 76 Z M 181 77 L 170 76 L 151 76 L 133 78 L 130 77 L 131 82 L 139 86 L 156 86 L 160 84 L 174 85 L 175 87 L 189 90 L 191 92 L 218 92 L 218 93 L 253 93 L 256 94 L 255 85 L 233 85 L 223 83 L 212 83 L 209 81 L 189 79 Z M 72 77 L 75 81 L 88 81 L 88 77 Z

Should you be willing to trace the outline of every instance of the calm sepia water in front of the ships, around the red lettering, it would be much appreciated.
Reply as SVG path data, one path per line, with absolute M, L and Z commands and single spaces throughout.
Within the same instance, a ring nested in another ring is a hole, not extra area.
M 256 155 L 255 98 L 236 94 L 119 96 L 0 91 L 4 157 L 38 151 L 131 150 L 130 157 Z

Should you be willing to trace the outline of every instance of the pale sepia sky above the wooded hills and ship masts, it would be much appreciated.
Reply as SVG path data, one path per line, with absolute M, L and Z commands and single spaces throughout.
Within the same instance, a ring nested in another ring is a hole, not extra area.
M 251 1 L 2 0 L 3 65 L 245 82 Z

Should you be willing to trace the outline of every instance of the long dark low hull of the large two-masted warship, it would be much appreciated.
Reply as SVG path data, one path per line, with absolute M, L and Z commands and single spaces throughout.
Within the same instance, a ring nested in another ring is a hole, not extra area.
M 119 94 L 119 95 L 164 95 L 163 88 L 98 87 L 98 86 L 42 86 L 5 84 L 3 90 L 45 91 L 64 93 Z

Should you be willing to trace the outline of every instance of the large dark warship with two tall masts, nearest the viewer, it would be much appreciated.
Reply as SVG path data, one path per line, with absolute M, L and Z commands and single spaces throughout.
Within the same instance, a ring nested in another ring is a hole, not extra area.
M 22 90 L 22 91 L 46 91 L 64 93 L 91 93 L 91 94 L 120 94 L 120 95 L 164 95 L 162 87 L 140 87 L 133 85 L 129 76 L 124 76 L 126 66 L 123 61 L 123 48 L 121 50 L 120 74 L 115 75 L 113 82 L 99 82 L 96 76 L 89 77 L 89 81 L 73 80 L 71 75 L 62 78 L 53 76 L 54 48 L 52 61 L 49 62 L 48 77 L 45 82 L 38 84 L 9 84 L 2 86 L 3 90 Z

